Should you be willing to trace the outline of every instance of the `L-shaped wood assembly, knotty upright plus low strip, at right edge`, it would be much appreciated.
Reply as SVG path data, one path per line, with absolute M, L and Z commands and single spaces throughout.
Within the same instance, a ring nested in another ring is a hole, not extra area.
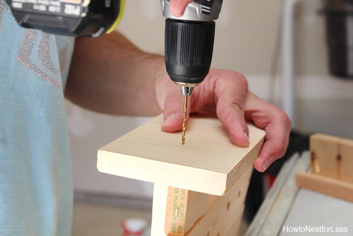
M 353 140 L 322 133 L 311 135 L 310 155 L 311 173 L 297 173 L 297 185 L 353 201 Z

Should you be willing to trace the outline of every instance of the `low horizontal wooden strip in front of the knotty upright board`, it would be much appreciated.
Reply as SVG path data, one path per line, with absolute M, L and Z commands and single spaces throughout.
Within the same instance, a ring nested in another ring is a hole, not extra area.
M 299 187 L 353 202 L 353 183 L 307 172 L 297 173 L 296 182 Z

